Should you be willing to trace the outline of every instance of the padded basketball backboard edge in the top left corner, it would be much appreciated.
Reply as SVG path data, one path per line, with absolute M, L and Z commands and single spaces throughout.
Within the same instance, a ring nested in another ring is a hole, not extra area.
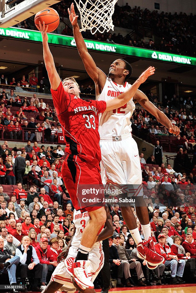
M 9 28 L 59 0 L 0 0 L 0 27 Z

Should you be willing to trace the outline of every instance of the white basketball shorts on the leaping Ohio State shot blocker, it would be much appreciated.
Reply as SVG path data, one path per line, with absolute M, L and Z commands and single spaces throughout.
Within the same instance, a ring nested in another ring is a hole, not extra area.
M 100 137 L 101 178 L 103 184 L 134 185 L 135 195 L 143 196 L 138 146 L 131 133 Z M 137 190 L 140 190 L 137 193 Z

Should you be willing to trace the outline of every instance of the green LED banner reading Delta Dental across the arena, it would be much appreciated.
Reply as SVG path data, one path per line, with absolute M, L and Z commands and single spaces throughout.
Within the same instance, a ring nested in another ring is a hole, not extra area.
M 11 37 L 21 40 L 29 40 L 42 42 L 41 33 L 34 30 L 25 30 L 19 28 L 0 28 L 1 37 Z M 170 54 L 166 52 L 159 52 L 147 49 L 141 49 L 137 47 L 129 47 L 125 45 L 102 43 L 92 40 L 84 40 L 86 47 L 91 50 L 108 52 L 110 54 L 122 54 L 127 56 L 139 57 L 141 59 L 154 59 L 156 61 L 172 62 L 176 64 L 185 64 L 196 66 L 196 58 L 189 56 L 182 56 L 176 54 Z M 74 38 L 48 33 L 48 43 L 55 45 L 63 45 L 68 47 L 76 47 Z

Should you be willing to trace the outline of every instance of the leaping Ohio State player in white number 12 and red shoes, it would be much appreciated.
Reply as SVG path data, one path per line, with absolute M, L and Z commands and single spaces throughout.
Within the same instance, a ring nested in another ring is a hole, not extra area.
M 74 11 L 73 3 L 68 9 L 69 18 L 73 25 L 73 34 L 79 55 L 84 63 L 88 75 L 93 79 L 96 86 L 96 98 L 101 101 L 115 100 L 120 93 L 131 87 L 126 80 L 132 74 L 131 65 L 123 59 L 115 60 L 109 68 L 108 78 L 99 69 L 91 55 L 88 53 L 83 37 L 77 23 L 78 16 Z M 147 261 L 147 266 L 156 268 L 163 262 L 163 257 L 155 252 L 151 238 L 151 228 L 148 210 L 143 199 L 142 173 L 138 147 L 131 135 L 130 117 L 135 109 L 135 100 L 144 109 L 156 117 L 157 121 L 165 125 L 172 134 L 179 134 L 178 127 L 173 126 L 165 114 L 151 103 L 141 91 L 130 95 L 130 100 L 116 110 L 99 115 L 99 134 L 102 156 L 101 176 L 113 185 L 131 184 L 135 189 L 135 206 L 138 219 L 141 223 L 145 241 L 142 242 L 134 214 L 131 207 L 121 206 L 123 218 L 128 225 L 129 231 L 137 244 L 138 257 Z

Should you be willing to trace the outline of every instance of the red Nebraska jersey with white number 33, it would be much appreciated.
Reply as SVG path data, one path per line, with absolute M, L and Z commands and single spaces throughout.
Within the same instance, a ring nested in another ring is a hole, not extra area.
M 54 107 L 62 126 L 68 154 L 86 161 L 101 161 L 98 114 L 106 109 L 105 101 L 82 100 L 65 92 L 62 82 L 56 91 L 51 88 Z M 89 143 L 93 147 L 89 147 Z

